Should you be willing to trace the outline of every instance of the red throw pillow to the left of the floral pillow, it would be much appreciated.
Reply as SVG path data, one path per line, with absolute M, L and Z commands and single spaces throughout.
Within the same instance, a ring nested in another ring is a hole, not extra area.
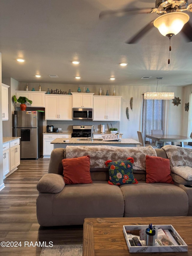
M 93 183 L 89 155 L 62 160 L 65 184 Z

